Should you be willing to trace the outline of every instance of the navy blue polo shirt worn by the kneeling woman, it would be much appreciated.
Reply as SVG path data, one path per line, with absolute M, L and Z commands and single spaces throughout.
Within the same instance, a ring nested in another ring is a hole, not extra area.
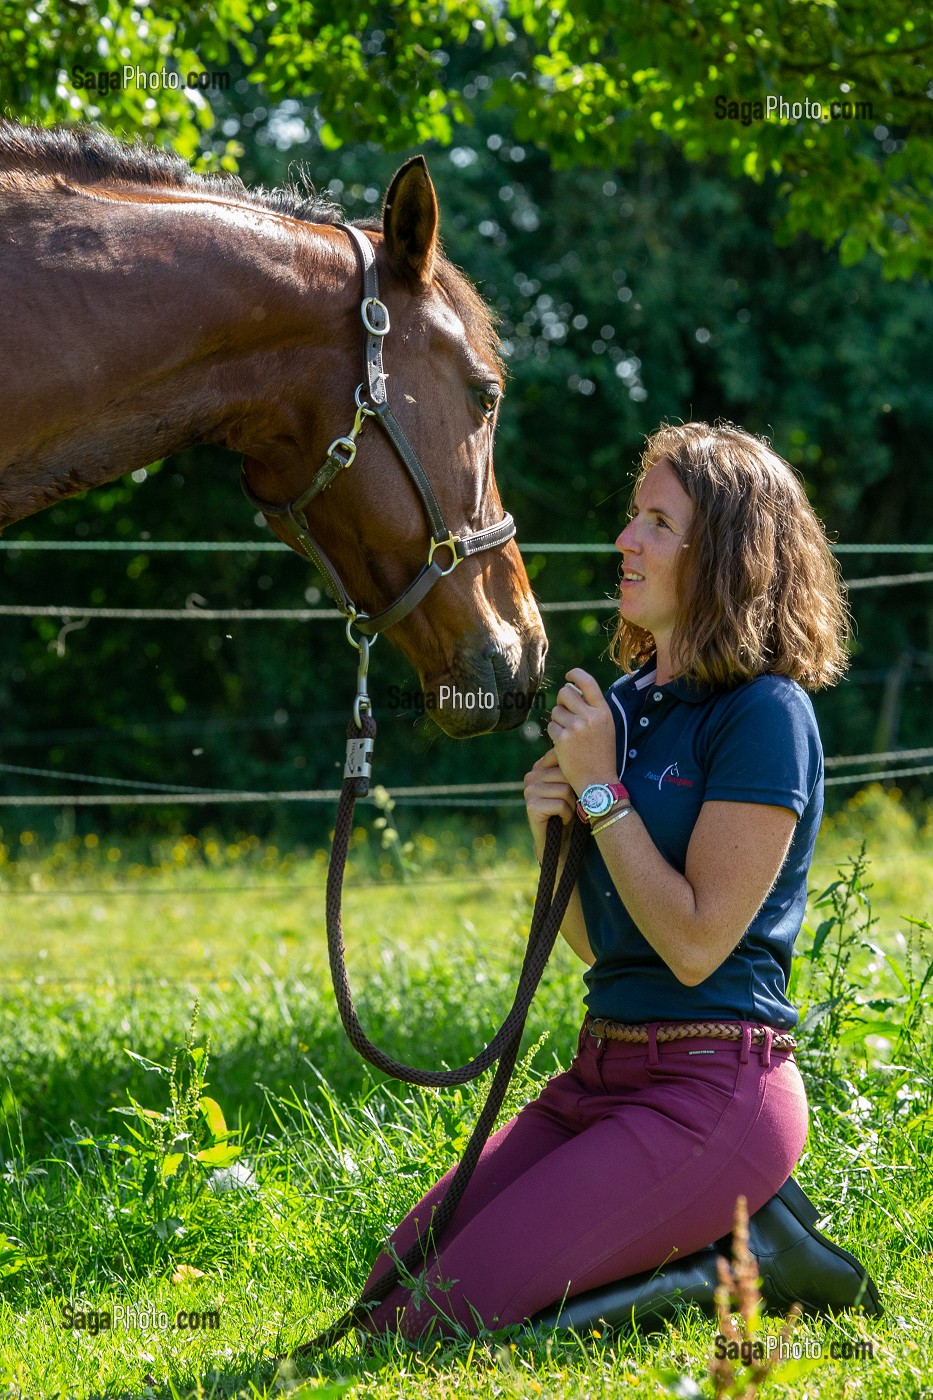
M 580 900 L 595 963 L 584 973 L 591 1015 L 611 1021 L 797 1023 L 787 1001 L 794 938 L 822 816 L 822 746 L 813 706 L 786 676 L 731 690 L 675 679 L 654 662 L 609 686 L 619 778 L 661 855 L 681 874 L 706 801 L 762 802 L 797 815 L 780 874 L 738 946 L 705 981 L 685 987 L 629 916 L 595 841 L 587 841 Z M 735 871 L 735 879 L 741 879 Z

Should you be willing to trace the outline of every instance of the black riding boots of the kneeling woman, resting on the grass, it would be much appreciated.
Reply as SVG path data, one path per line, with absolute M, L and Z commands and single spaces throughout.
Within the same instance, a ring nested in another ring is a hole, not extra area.
M 789 1177 L 776 1196 L 748 1221 L 748 1247 L 758 1260 L 765 1308 L 786 1313 L 799 1302 L 804 1312 L 838 1312 L 862 1308 L 881 1316 L 878 1291 L 855 1254 L 834 1245 L 814 1228 L 817 1208 Z M 621 1327 L 663 1322 L 684 1303 L 696 1302 L 713 1312 L 719 1284 L 716 1260 L 731 1256 L 731 1235 L 688 1259 L 615 1284 L 577 1294 L 542 1309 L 531 1319 L 535 1327 Z

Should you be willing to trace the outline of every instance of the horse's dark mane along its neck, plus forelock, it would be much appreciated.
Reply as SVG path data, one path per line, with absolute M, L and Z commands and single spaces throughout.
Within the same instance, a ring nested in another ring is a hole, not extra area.
M 318 195 L 301 172 L 304 189 L 249 189 L 238 175 L 199 175 L 174 151 L 136 140 L 118 141 L 92 126 L 59 125 L 24 126 L 0 118 L 0 171 L 22 171 L 27 176 L 59 175 L 81 185 L 119 181 L 148 185 L 153 189 L 185 189 L 195 193 L 233 199 L 310 224 L 340 224 L 343 210 L 329 196 Z M 381 232 L 380 220 L 356 220 L 361 228 Z M 434 274 L 450 297 L 454 309 L 469 329 L 481 353 L 502 372 L 499 336 L 493 314 L 469 279 L 443 253 Z

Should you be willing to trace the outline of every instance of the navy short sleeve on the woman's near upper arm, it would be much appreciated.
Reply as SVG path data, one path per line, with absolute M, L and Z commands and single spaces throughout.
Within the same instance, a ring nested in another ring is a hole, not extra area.
M 822 745 L 810 699 L 786 676 L 733 692 L 707 729 L 706 801 L 787 806 L 800 818 L 822 783 Z

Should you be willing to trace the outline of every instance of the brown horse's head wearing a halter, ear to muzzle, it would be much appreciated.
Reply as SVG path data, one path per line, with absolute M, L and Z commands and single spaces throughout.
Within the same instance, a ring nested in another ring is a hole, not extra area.
M 409 595 L 385 630 L 447 734 L 513 728 L 528 715 L 546 638 L 493 475 L 503 365 L 490 314 L 440 251 L 437 196 L 420 157 L 395 175 L 381 230 L 319 232 L 335 265 L 353 259 L 353 295 L 315 358 L 314 412 L 296 434 L 301 465 L 245 449 L 248 494 L 286 543 L 322 566 L 345 609 L 352 599 L 375 617 Z M 353 242 L 363 241 L 380 290 L 361 318 Z M 339 273 L 335 281 L 343 286 Z M 385 413 L 356 412 L 382 405 L 398 433 Z

